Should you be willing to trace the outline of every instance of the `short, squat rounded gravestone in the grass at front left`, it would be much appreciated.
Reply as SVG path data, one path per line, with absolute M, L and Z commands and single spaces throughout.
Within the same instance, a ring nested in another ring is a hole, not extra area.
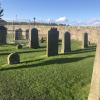
M 17 52 L 8 55 L 8 64 L 18 64 L 20 63 L 20 56 Z

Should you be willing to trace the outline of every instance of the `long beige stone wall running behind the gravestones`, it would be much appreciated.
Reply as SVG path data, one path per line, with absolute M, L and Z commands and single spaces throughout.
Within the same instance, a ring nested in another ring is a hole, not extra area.
M 12 33 L 12 30 L 16 30 L 21 28 L 23 30 L 23 34 L 25 34 L 25 31 L 27 29 L 31 30 L 34 26 L 33 25 L 6 25 L 8 28 L 8 33 Z M 89 34 L 89 41 L 91 43 L 96 43 L 97 41 L 97 34 L 100 32 L 99 27 L 67 27 L 67 26 L 43 26 L 43 25 L 36 25 L 35 28 L 39 30 L 39 36 L 47 36 L 48 30 L 51 29 L 51 27 L 56 27 L 59 31 L 60 38 L 62 37 L 62 34 L 64 34 L 66 31 L 69 31 L 71 33 L 71 39 L 82 41 L 82 34 L 87 32 Z

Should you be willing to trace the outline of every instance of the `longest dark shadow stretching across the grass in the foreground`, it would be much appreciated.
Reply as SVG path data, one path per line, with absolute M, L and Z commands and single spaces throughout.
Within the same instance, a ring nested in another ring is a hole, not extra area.
M 75 57 L 75 58 L 56 58 L 52 60 L 47 60 L 47 61 L 42 61 L 40 63 L 31 63 L 31 64 L 25 64 L 25 65 L 19 65 L 17 67 L 9 67 L 9 68 L 1 68 L 0 71 L 7 71 L 7 70 L 15 70 L 15 69 L 28 69 L 28 68 L 33 68 L 33 67 L 39 67 L 39 66 L 45 66 L 45 65 L 51 65 L 51 64 L 64 64 L 64 63 L 72 63 L 72 62 L 77 62 L 86 58 L 94 57 L 92 56 L 86 56 L 86 57 Z M 30 61 L 31 62 L 31 61 Z M 24 63 L 24 62 L 22 62 Z

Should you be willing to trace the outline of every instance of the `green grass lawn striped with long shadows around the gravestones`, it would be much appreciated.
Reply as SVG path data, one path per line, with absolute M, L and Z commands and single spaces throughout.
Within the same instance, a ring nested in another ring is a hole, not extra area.
M 20 64 L 8 65 L 7 55 L 19 52 Z M 46 44 L 39 49 L 0 45 L 0 100 L 87 100 L 95 46 L 81 49 L 72 41 L 72 52 L 46 56 Z

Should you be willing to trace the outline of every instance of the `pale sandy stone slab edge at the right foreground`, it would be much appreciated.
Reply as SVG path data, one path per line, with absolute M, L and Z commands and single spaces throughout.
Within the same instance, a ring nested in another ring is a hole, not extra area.
M 98 36 L 96 57 L 88 100 L 100 100 L 100 35 Z

